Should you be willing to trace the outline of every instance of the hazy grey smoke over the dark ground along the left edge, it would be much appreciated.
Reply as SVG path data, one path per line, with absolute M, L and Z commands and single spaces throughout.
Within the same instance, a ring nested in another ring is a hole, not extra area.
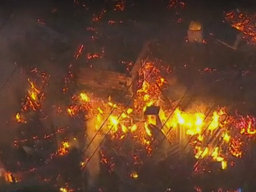
M 51 59 L 55 51 L 52 45 L 59 41 L 66 42 L 66 39 L 61 35 L 51 38 L 52 33 L 58 33 L 37 23 L 44 7 L 39 4 L 25 6 L 18 2 L 11 5 L 12 1 L 9 2 L 9 6 L 0 9 L 0 140 L 12 145 L 19 127 L 15 114 L 20 111 L 22 99 L 27 94 L 31 67 L 51 75 L 50 86 L 44 90 L 46 95 L 50 95 L 52 91 L 56 93 L 56 87 L 63 83 L 68 62 L 58 67 L 57 60 Z M 52 111 L 54 101 L 52 97 L 47 97 L 43 109 Z M 64 106 L 64 103 L 60 105 Z

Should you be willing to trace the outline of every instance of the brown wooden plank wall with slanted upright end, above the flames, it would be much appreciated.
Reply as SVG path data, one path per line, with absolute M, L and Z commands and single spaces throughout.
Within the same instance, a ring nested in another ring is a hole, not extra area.
M 154 42 L 155 40 L 151 40 L 144 44 L 129 74 L 80 67 L 77 73 L 78 85 L 84 89 L 104 93 L 104 95 L 119 92 L 131 97 L 137 90 L 137 80 L 142 62 L 150 55 L 150 44 Z

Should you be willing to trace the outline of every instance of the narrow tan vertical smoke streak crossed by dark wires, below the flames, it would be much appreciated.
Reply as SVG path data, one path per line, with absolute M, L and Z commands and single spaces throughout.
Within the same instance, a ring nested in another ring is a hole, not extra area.
M 86 129 L 87 143 L 86 143 L 86 146 L 88 146 L 90 141 L 92 141 L 90 143 L 90 146 L 88 147 L 88 149 L 85 150 L 85 157 L 87 157 L 87 158 L 90 158 L 92 156 L 92 154 L 95 152 L 95 150 L 100 145 L 100 142 L 103 139 L 102 138 L 103 135 L 101 135 L 100 133 L 98 133 L 96 135 L 96 137 L 93 139 L 93 137 L 97 133 L 97 129 L 96 129 L 97 128 L 97 123 L 99 123 L 99 122 L 97 122 L 96 118 L 92 118 L 92 119 L 88 120 L 88 123 L 87 123 L 87 129 Z M 95 154 L 93 154 L 92 159 L 90 159 L 90 161 L 86 165 L 86 169 L 88 171 L 88 187 L 89 187 L 89 189 L 92 189 L 95 186 L 95 184 L 97 182 L 98 175 L 100 173 L 100 152 L 99 152 L 99 149 L 97 149 Z

